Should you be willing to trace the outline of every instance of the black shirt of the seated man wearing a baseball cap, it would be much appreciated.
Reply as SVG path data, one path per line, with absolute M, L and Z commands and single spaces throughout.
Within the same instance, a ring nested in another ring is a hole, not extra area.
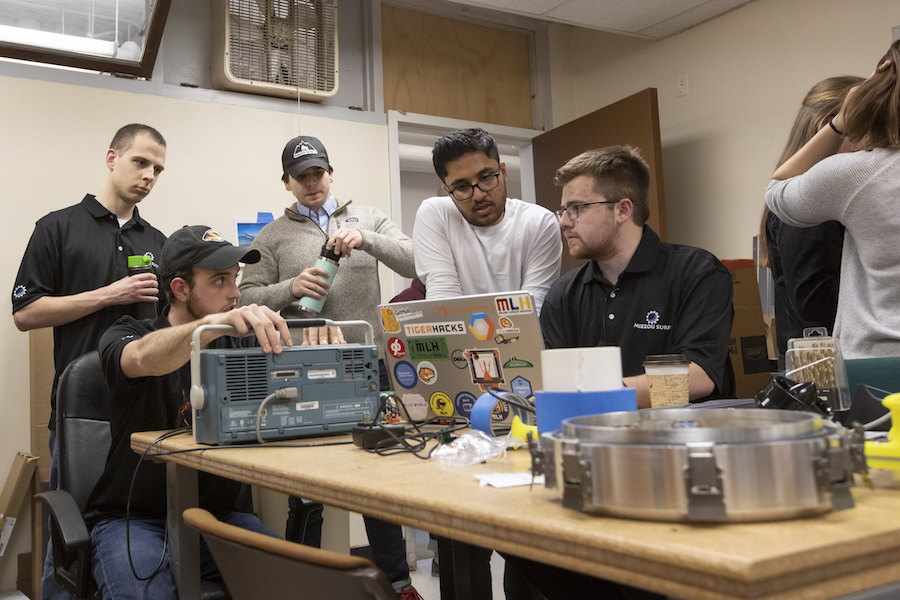
M 123 317 L 100 340 L 100 362 L 110 390 L 112 443 L 103 474 L 88 498 L 85 519 L 93 526 L 101 519 L 124 518 L 128 490 L 140 456 L 131 449 L 137 431 L 174 429 L 190 423 L 191 365 L 160 377 L 130 379 L 121 368 L 125 346 L 152 331 L 169 327 L 168 310 L 156 320 Z M 256 337 L 221 337 L 211 347 L 235 348 L 257 344 Z M 218 517 L 235 509 L 240 483 L 200 473 L 200 506 Z M 144 461 L 131 493 L 132 518 L 166 516 L 166 465 Z

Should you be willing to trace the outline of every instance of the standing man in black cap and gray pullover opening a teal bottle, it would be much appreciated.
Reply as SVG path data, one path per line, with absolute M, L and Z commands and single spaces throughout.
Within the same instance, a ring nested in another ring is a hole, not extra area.
M 378 331 L 378 265 L 384 263 L 403 277 L 415 277 L 412 240 L 380 210 L 334 197 L 334 169 L 328 151 L 317 138 L 299 136 L 289 141 L 281 153 L 281 166 L 282 182 L 295 201 L 253 240 L 252 248 L 259 250 L 260 260 L 244 269 L 240 303 L 268 306 L 288 318 L 365 319 Z M 339 268 L 330 285 L 323 279 L 328 273 L 315 266 L 323 245 L 339 256 Z M 316 300 L 324 297 L 321 312 L 299 307 L 297 301 L 303 296 Z M 346 337 L 350 342 L 363 342 L 359 331 L 348 331 Z M 304 344 L 343 341 L 340 329 L 303 330 Z M 387 373 L 381 366 L 382 389 L 389 389 Z M 301 505 L 296 498 L 290 503 L 292 519 L 286 537 L 317 545 L 318 536 L 310 533 L 309 525 L 303 532 L 292 529 L 303 523 L 315 523 L 320 529 L 321 518 L 316 518 L 315 511 L 321 508 Z M 410 583 L 400 526 L 370 517 L 364 521 L 375 564 L 387 574 L 402 600 L 419 598 Z

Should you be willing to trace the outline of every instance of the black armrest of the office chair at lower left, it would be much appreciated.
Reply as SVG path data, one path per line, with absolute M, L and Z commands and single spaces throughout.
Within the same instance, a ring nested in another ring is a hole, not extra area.
M 75 499 L 65 490 L 34 496 L 50 513 L 56 582 L 76 598 L 91 591 L 91 534 Z

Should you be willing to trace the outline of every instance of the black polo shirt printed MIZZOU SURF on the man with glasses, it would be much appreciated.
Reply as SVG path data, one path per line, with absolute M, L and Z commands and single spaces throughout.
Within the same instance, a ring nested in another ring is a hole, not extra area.
M 624 377 L 643 375 L 650 354 L 684 354 L 715 383 L 710 398 L 732 398 L 732 292 L 731 275 L 715 256 L 662 243 L 645 225 L 615 285 L 595 261 L 553 284 L 541 309 L 544 347 L 619 346 Z

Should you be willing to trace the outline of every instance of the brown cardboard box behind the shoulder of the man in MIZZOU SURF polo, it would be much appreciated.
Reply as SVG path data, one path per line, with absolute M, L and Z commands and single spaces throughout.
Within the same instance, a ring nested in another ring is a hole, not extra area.
M 734 283 L 734 322 L 729 354 L 738 398 L 753 398 L 771 381 L 766 326 L 763 322 L 753 260 L 723 260 Z

